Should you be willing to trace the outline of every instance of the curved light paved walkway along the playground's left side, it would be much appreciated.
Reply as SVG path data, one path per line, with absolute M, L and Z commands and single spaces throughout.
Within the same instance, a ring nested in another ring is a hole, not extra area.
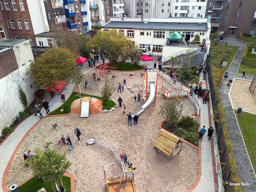
M 84 67 L 83 71 L 88 72 L 91 70 L 91 68 Z M 68 84 L 67 89 L 63 90 L 63 93 L 65 94 L 65 97 L 68 98 L 70 94 L 72 93 L 74 84 Z M 62 101 L 60 99 L 60 95 L 56 95 L 50 102 L 50 111 L 53 111 L 54 109 L 60 107 L 62 105 Z M 45 110 L 42 109 L 43 116 L 47 115 Z M 38 116 L 30 116 L 25 121 L 23 121 L 16 129 L 15 131 L 2 143 L 0 146 L 0 192 L 3 191 L 2 188 L 2 179 L 4 175 L 5 168 L 15 150 L 18 143 L 22 139 L 22 137 L 25 135 L 26 132 L 37 122 L 39 121 Z M 43 119 L 45 121 L 45 119 Z M 15 184 L 15 183 L 14 183 Z

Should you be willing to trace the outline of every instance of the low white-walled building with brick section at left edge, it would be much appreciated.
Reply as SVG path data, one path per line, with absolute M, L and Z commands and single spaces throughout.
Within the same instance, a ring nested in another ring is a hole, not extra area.
M 34 60 L 29 40 L 0 39 L 0 130 L 10 126 L 15 116 L 23 111 L 18 95 L 18 85 L 23 88 L 28 105 L 35 100 L 37 86 L 26 75 Z

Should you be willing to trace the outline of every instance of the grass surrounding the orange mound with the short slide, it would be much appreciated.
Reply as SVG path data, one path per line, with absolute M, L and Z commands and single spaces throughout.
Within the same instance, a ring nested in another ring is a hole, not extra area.
M 57 108 L 54 111 L 52 111 L 51 113 L 49 113 L 49 115 L 60 115 L 60 114 L 68 114 L 68 113 L 70 113 L 70 107 L 71 107 L 72 102 L 74 100 L 79 99 L 79 97 L 76 96 L 76 95 L 78 95 L 78 93 L 77 92 L 73 92 L 71 94 L 71 96 L 69 97 L 69 99 L 66 100 L 66 102 L 63 103 L 62 106 L 60 106 L 59 108 Z M 93 97 L 95 99 L 102 100 L 102 97 L 98 97 L 98 96 L 95 96 L 95 95 L 83 94 L 82 96 L 91 96 L 91 97 Z M 108 109 L 109 110 L 112 107 L 114 107 L 114 105 L 115 105 L 115 102 L 112 101 L 112 100 L 109 100 L 107 105 L 103 105 L 102 106 L 102 110 L 103 109 Z M 61 109 L 63 109 L 63 111 L 60 111 Z

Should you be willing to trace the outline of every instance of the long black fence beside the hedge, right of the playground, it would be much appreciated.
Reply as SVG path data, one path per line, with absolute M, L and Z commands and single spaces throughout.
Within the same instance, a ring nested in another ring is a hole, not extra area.
M 205 61 L 204 61 L 205 62 Z M 232 171 L 230 166 L 230 160 L 228 156 L 228 150 L 231 150 L 227 147 L 227 143 L 223 134 L 223 126 L 220 118 L 220 110 L 219 110 L 219 104 L 218 99 L 216 96 L 215 87 L 213 84 L 213 78 L 212 78 L 212 70 L 209 63 L 209 56 L 207 55 L 207 59 L 205 62 L 207 66 L 207 73 L 208 73 L 208 81 L 209 86 L 211 90 L 211 100 L 212 100 L 212 109 L 214 114 L 214 120 L 215 120 L 215 133 L 217 134 L 217 140 L 218 140 L 218 146 L 219 146 L 219 153 L 220 153 L 220 162 L 221 162 L 221 170 L 222 170 L 222 177 L 223 177 L 223 185 L 225 192 L 235 192 L 235 187 L 232 185 L 229 185 L 229 183 L 233 183 L 232 178 Z

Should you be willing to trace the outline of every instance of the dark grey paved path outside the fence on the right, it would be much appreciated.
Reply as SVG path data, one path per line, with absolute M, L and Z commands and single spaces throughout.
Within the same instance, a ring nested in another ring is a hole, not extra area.
M 228 36 L 227 38 L 225 38 L 225 40 L 228 41 L 228 44 L 240 47 L 239 51 L 236 54 L 235 59 L 233 60 L 228 69 L 228 78 L 242 78 L 242 75 L 237 74 L 236 71 L 242 59 L 242 55 L 246 47 L 246 44 L 238 41 L 233 36 Z M 246 75 L 246 80 L 252 80 L 252 76 Z M 235 157 L 237 163 L 236 171 L 238 173 L 238 176 L 240 177 L 241 182 L 250 183 L 249 186 L 241 186 L 243 192 L 255 192 L 255 173 L 253 172 L 252 164 L 246 151 L 244 140 L 241 135 L 239 126 L 236 121 L 236 116 L 234 114 L 233 108 L 228 97 L 229 89 L 230 87 L 227 86 L 227 78 L 223 78 L 223 80 L 220 83 L 219 92 L 221 97 L 221 104 L 224 108 L 224 114 L 226 116 L 227 128 L 229 130 L 230 135 L 229 138 L 233 143 L 233 156 Z

